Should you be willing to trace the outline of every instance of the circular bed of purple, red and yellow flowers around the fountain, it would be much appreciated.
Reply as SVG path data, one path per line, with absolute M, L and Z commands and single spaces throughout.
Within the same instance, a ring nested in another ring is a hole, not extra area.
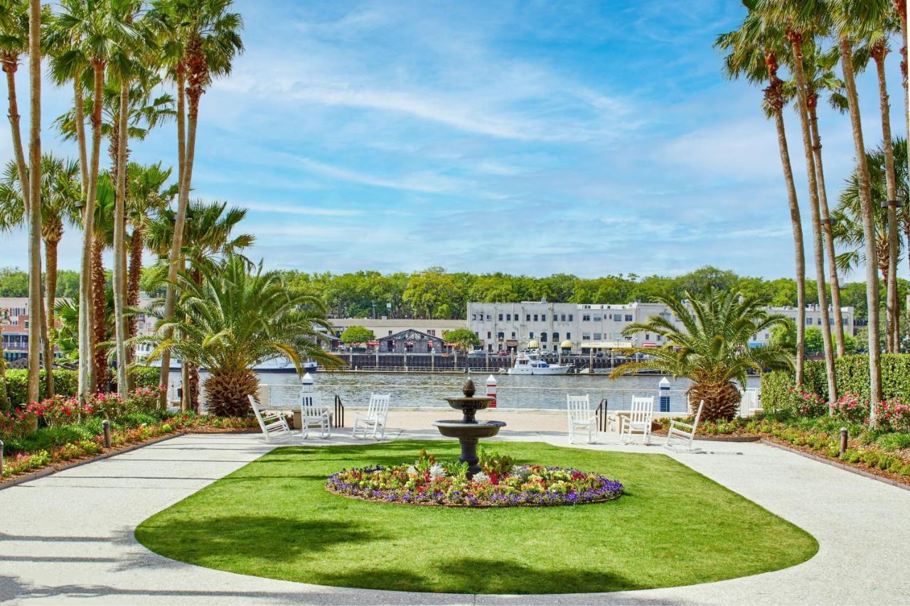
M 421 453 L 412 465 L 339 471 L 329 476 L 326 490 L 385 503 L 450 507 L 579 505 L 622 495 L 620 482 L 597 473 L 511 464 L 497 472 L 482 462 L 485 472 L 469 479 L 466 463 L 439 464 Z

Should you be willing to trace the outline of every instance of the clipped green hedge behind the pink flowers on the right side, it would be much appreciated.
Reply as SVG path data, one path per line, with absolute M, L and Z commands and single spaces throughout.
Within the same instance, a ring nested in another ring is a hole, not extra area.
M 910 354 L 882 354 L 882 398 L 910 399 Z M 837 393 L 855 393 L 869 397 L 869 357 L 844 356 L 834 360 Z M 792 372 L 769 372 L 762 377 L 762 402 L 768 409 L 781 408 L 786 390 L 794 387 Z M 828 379 L 824 360 L 807 360 L 804 366 L 803 389 L 828 397 Z

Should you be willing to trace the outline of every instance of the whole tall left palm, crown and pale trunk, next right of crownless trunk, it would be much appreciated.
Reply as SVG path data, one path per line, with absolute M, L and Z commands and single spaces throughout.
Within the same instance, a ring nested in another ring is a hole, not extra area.
M 90 281 L 92 279 L 92 254 L 95 246 L 95 236 L 93 233 L 94 225 L 92 218 L 95 217 L 96 196 L 98 187 L 98 167 L 100 163 L 101 152 L 101 109 L 102 103 L 98 102 L 103 98 L 105 73 L 107 64 L 117 50 L 117 41 L 121 39 L 123 32 L 130 31 L 131 25 L 123 20 L 123 12 L 113 10 L 112 2 L 119 0 L 63 0 L 60 11 L 56 13 L 54 20 L 55 39 L 57 44 L 53 46 L 59 49 L 62 45 L 68 44 L 73 53 L 68 56 L 71 61 L 63 61 L 61 64 L 71 66 L 73 74 L 78 77 L 78 67 L 81 62 L 86 62 L 92 70 L 92 98 L 96 101 L 93 103 L 91 125 L 92 125 L 92 146 L 90 166 L 87 171 L 88 185 L 86 187 L 86 205 L 83 211 L 83 248 L 82 248 L 82 265 L 79 280 L 79 312 L 80 318 L 80 339 L 79 339 L 79 395 L 85 399 L 89 385 L 88 364 L 92 355 L 92 339 L 90 338 L 90 328 L 92 328 L 92 318 L 90 317 L 89 298 L 93 297 L 90 292 Z M 81 57 L 81 58 L 79 58 Z M 66 69 L 60 66 L 60 72 L 66 73 Z M 98 322 L 94 322 L 97 326 Z M 94 356 L 97 359 L 97 355 Z M 97 367 L 97 364 L 96 364 Z M 96 380 L 100 380 L 96 378 Z

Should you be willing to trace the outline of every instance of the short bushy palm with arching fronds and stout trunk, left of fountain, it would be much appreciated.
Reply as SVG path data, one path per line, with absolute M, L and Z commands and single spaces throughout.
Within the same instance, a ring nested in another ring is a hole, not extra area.
M 157 335 L 136 342 L 155 346 L 149 359 L 169 351 L 177 358 L 208 370 L 208 411 L 221 416 L 246 416 L 248 396 L 256 393 L 253 365 L 286 356 L 300 369 L 301 359 L 317 359 L 329 367 L 342 364 L 320 347 L 327 341 L 326 309 L 319 298 L 295 294 L 278 272 L 263 271 L 260 263 L 249 272 L 248 262 L 228 255 L 216 266 L 201 270 L 197 284 L 186 272 L 178 276 L 182 295 L 173 319 L 162 318 Z M 149 309 L 160 317 L 164 309 Z M 173 338 L 173 331 L 185 338 Z

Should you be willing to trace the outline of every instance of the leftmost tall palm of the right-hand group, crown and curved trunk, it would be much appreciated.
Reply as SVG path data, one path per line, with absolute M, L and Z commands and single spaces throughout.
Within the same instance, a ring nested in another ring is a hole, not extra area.
M 794 267 L 796 272 L 796 386 L 803 387 L 804 344 L 805 344 L 805 254 L 803 245 L 803 221 L 800 217 L 799 200 L 796 196 L 793 167 L 790 164 L 790 150 L 784 127 L 784 81 L 777 76 L 777 57 L 783 56 L 783 33 L 764 23 L 755 13 L 754 0 L 743 0 L 749 9 L 740 29 L 718 37 L 714 46 L 727 52 L 723 59 L 726 76 L 744 76 L 752 84 L 768 83 L 764 88 L 763 109 L 767 116 L 773 116 L 777 130 L 777 145 L 780 149 L 781 166 L 784 169 L 784 184 L 790 207 L 790 222 L 794 235 Z

